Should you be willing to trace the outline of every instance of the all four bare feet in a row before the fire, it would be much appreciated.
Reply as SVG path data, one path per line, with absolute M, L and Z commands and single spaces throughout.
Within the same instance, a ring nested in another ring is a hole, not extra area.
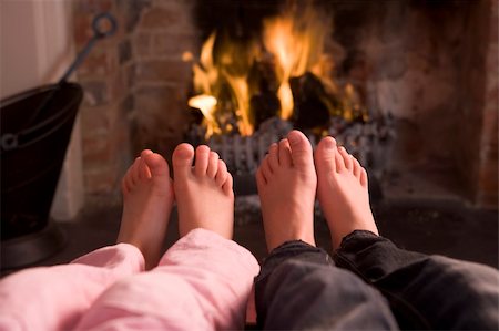
M 193 159 L 195 155 L 195 165 Z M 315 163 L 315 164 L 314 164 Z M 181 237 L 205 228 L 231 239 L 234 226 L 233 179 L 225 163 L 207 146 L 179 145 L 173 153 L 174 180 L 159 154 L 143 151 L 123 178 L 123 217 L 118 242 L 136 246 L 146 269 L 160 257 L 173 200 Z M 315 246 L 313 210 L 317 193 L 333 247 L 355 229 L 377 234 L 367 192 L 367 174 L 332 137 L 313 155 L 298 131 L 271 145 L 256 182 L 268 251 L 288 240 Z

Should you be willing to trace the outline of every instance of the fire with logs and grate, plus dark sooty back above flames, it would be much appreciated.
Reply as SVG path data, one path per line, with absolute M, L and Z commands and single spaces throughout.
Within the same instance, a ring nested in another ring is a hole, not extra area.
M 208 8 L 215 14 L 206 15 Z M 236 188 L 292 128 L 313 145 L 333 135 L 364 166 L 383 167 L 391 116 L 370 112 L 365 82 L 342 70 L 332 12 L 319 1 L 196 2 L 205 41 L 198 58 L 184 54 L 193 66 L 186 138 L 218 152 Z

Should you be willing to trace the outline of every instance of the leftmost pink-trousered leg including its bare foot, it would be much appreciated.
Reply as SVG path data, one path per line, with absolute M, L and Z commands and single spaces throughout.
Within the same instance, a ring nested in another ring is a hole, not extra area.
M 123 179 L 122 230 L 115 246 L 98 249 L 70 265 L 33 268 L 0 282 L 0 330 L 70 330 L 93 301 L 116 280 L 144 270 L 162 235 L 147 237 L 143 229 L 165 228 L 173 190 L 164 159 L 144 151 Z M 161 185 L 160 185 L 161 184 Z M 157 190 L 156 187 L 162 189 Z M 152 199 L 164 206 L 153 210 Z M 150 215 L 156 217 L 151 218 Z M 134 229 L 134 232 L 129 231 Z M 132 245 L 130 245 L 132 244 Z M 142 255 L 141 248 L 144 251 Z

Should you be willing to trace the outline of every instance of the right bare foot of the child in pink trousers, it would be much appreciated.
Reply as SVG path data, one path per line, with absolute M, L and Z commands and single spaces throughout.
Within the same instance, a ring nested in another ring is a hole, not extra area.
M 173 176 L 179 208 L 181 237 L 195 228 L 212 230 L 232 239 L 234 230 L 234 192 L 232 175 L 218 154 L 198 146 L 180 144 L 173 152 Z

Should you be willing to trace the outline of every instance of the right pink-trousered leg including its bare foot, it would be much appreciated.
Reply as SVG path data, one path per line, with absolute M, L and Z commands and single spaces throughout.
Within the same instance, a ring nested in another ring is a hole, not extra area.
M 241 329 L 255 258 L 234 241 L 232 177 L 206 146 L 180 145 L 173 155 L 181 239 L 150 272 L 120 281 L 79 328 Z M 110 319 L 110 317 L 112 317 Z

